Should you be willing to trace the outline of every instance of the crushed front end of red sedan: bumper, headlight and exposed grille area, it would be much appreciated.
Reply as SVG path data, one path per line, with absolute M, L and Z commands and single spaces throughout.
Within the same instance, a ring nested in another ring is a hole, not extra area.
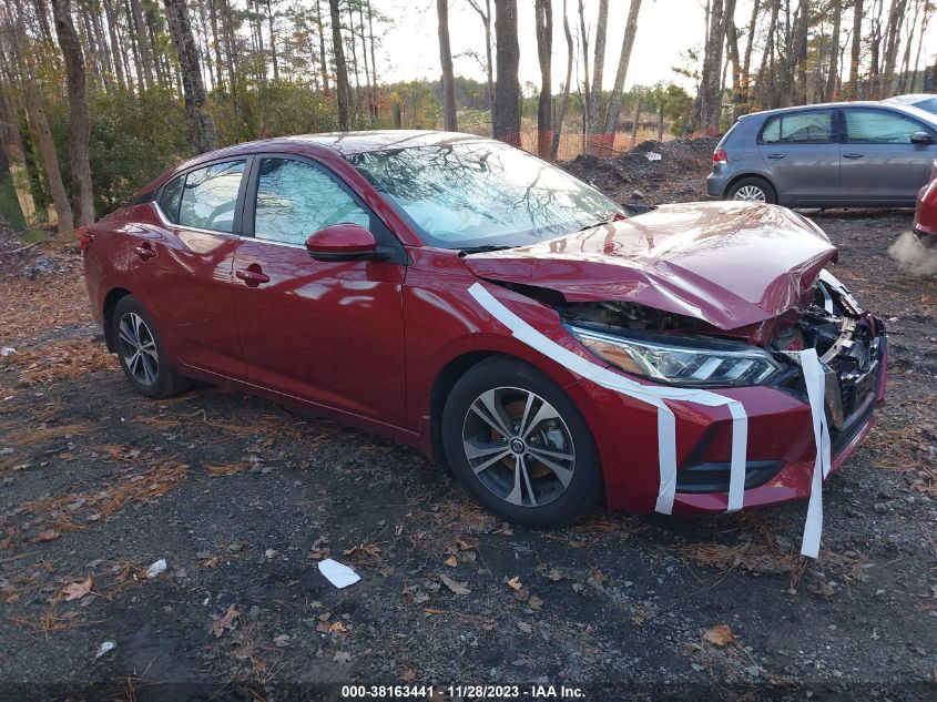
M 625 339 L 646 335 L 658 339 L 696 338 L 703 347 L 729 349 L 724 352 L 726 360 L 721 364 L 684 356 L 681 363 L 688 364 L 689 369 L 679 385 L 693 387 L 695 379 L 697 387 L 707 387 L 706 380 L 714 379 L 715 383 L 709 384 L 711 391 L 737 400 L 744 407 L 745 507 L 805 498 L 811 492 L 816 444 L 799 352 L 815 349 L 824 372 L 824 410 L 834 470 L 872 428 L 874 408 L 884 400 L 885 327 L 865 313 L 826 272 L 806 292 L 801 308 L 775 325 L 771 338 L 761 346 L 733 338 L 732 332 L 715 329 L 699 319 L 640 305 L 587 303 L 562 305 L 558 311 L 574 334 L 584 328 L 594 330 L 597 336 Z M 746 366 L 743 353 L 746 348 L 755 360 L 757 353 L 768 357 L 773 370 L 760 373 Z M 607 353 L 598 355 L 619 369 L 633 370 L 625 363 L 615 363 L 618 359 Z M 739 383 L 730 381 L 733 374 Z M 729 380 L 719 385 L 721 379 Z M 587 419 L 597 437 L 601 437 L 598 442 L 609 505 L 630 511 L 653 509 L 660 485 L 656 444 L 646 440 L 659 430 L 653 408 L 634 398 L 608 393 L 588 378 L 568 390 L 579 396 L 580 406 L 590 415 Z M 668 400 L 668 406 L 676 419 L 673 511 L 725 510 L 732 460 L 730 413 L 725 407 L 692 401 Z M 627 423 L 622 423 L 623 417 L 628 417 Z

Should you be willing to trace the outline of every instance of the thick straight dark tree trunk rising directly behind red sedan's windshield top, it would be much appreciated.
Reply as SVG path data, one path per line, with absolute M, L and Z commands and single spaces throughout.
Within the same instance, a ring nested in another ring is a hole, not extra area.
M 495 40 L 498 79 L 495 83 L 495 119 L 491 131 L 495 139 L 520 146 L 517 0 L 495 0 Z

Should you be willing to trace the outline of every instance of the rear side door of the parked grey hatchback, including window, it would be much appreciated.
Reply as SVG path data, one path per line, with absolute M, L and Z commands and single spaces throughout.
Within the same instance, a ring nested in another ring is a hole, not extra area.
M 757 141 L 782 203 L 812 204 L 836 199 L 839 144 L 835 110 L 781 112 L 765 120 Z

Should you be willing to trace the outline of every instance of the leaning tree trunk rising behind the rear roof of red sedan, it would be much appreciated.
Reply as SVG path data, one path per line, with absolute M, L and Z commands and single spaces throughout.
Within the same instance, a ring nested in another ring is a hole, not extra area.
M 61 1 L 61 0 L 59 0 Z M 185 96 L 185 112 L 189 116 L 189 145 L 195 153 L 205 153 L 218 147 L 215 121 L 208 112 L 208 96 L 202 82 L 198 50 L 189 20 L 185 0 L 163 0 L 170 32 L 179 53 L 179 70 L 182 73 L 182 89 Z

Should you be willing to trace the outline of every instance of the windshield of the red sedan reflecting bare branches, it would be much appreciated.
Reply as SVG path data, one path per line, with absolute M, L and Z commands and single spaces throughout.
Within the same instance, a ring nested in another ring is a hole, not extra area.
M 379 151 L 348 161 L 427 244 L 441 248 L 523 246 L 620 212 L 595 189 L 499 142 Z

